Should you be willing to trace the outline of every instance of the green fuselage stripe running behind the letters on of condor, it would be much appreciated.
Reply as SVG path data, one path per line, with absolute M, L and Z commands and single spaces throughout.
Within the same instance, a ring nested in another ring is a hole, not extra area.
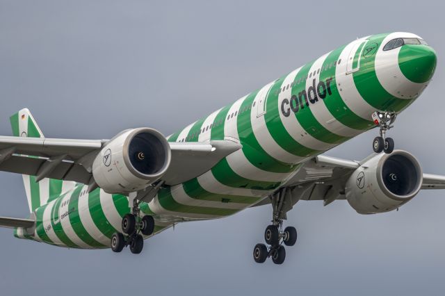
M 311 69 L 313 64 L 314 62 L 306 64 L 300 69 L 293 82 L 294 87 L 292 88 L 292 95 L 296 95 L 297 97 L 299 97 L 298 94 L 300 92 L 306 92 L 307 79 L 310 79 L 310 81 L 314 79 L 313 76 L 308 78 L 309 70 Z M 326 143 L 339 144 L 349 139 L 348 137 L 336 135 L 325 129 L 325 127 L 316 120 L 314 114 L 312 114 L 312 110 L 310 109 L 311 103 L 309 102 L 309 105 L 306 104 L 304 97 L 300 97 L 302 99 L 302 108 L 300 106 L 300 109 L 297 113 L 295 113 L 295 116 L 298 122 L 300 122 L 302 128 L 305 129 L 307 133 L 312 135 L 317 140 Z M 316 104 L 319 104 L 319 102 L 316 102 Z

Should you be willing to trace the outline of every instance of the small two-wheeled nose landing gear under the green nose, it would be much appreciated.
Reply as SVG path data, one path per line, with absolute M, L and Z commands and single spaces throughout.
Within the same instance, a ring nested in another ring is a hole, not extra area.
M 386 138 L 387 130 L 391 129 L 396 120 L 397 113 L 395 112 L 374 112 L 373 120 L 380 128 L 380 137 L 375 137 L 373 140 L 373 150 L 375 153 L 384 151 L 390 154 L 394 150 L 394 140 Z

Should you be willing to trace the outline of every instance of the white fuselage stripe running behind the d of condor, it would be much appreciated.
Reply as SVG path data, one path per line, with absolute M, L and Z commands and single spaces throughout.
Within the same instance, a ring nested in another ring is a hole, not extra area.
M 330 53 L 325 54 L 324 56 L 321 56 L 321 58 L 318 58 L 315 63 L 312 65 L 311 69 L 309 70 L 309 73 L 316 73 L 315 76 L 312 75 L 309 79 L 306 81 L 306 90 L 309 90 L 309 87 L 314 86 L 315 81 L 315 92 L 317 92 L 316 88 L 318 85 L 318 81 L 320 81 L 320 72 L 318 71 L 323 67 L 323 63 L 325 62 L 327 56 Z M 327 90 L 326 90 L 327 91 Z M 309 99 L 309 93 L 307 94 Z M 327 94 L 325 99 L 330 99 L 329 94 Z M 358 135 L 359 133 L 362 133 L 362 131 L 359 131 L 357 129 L 351 129 L 349 126 L 346 126 L 339 122 L 332 113 L 330 113 L 329 110 L 327 110 L 326 105 L 322 101 L 323 99 L 318 98 L 318 101 L 315 102 L 315 104 L 310 104 L 310 108 L 312 110 L 312 114 L 327 131 L 330 131 L 331 133 L 334 133 L 336 135 L 341 135 L 343 137 L 353 137 L 355 135 Z

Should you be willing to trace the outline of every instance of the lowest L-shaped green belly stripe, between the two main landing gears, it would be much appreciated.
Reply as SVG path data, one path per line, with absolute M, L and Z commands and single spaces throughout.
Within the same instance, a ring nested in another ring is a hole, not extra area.
M 158 199 L 159 204 L 163 208 L 165 208 L 165 210 L 172 212 L 206 214 L 215 216 L 232 215 L 238 212 L 237 210 L 227 208 L 207 208 L 204 206 L 186 206 L 184 204 L 179 204 L 175 201 L 175 199 L 173 199 L 170 187 L 162 188 L 161 190 L 159 190 Z

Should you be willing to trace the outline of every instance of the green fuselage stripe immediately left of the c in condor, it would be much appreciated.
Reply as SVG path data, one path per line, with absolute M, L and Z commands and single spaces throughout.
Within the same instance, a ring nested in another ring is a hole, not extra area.
M 307 157 L 310 155 L 316 154 L 318 151 L 309 149 L 303 145 L 301 145 L 298 141 L 294 140 L 292 136 L 288 133 L 286 128 L 284 127 L 283 122 L 280 118 L 280 108 L 278 106 L 278 97 L 277 93 L 280 88 L 282 88 L 282 83 L 285 77 L 275 81 L 274 85 L 270 89 L 268 94 L 268 98 L 266 100 L 266 114 L 264 115 L 264 120 L 266 120 L 267 129 L 272 136 L 273 140 L 277 142 L 277 144 L 282 147 L 285 151 L 288 151 L 291 154 L 296 156 Z M 290 99 L 290 98 L 287 98 Z

